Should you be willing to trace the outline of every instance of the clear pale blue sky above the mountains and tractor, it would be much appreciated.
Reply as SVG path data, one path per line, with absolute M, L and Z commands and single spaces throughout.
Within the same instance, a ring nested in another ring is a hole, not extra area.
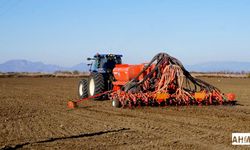
M 0 63 L 125 63 L 167 52 L 184 64 L 250 61 L 249 0 L 0 0 Z

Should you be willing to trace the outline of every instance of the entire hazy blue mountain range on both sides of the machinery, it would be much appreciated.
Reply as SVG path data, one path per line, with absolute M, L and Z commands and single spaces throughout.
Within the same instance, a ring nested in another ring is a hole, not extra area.
M 250 72 L 250 62 L 208 62 L 196 65 L 185 66 L 188 71 L 196 72 Z M 32 62 L 28 60 L 10 60 L 0 64 L 0 72 L 48 72 L 55 71 L 88 71 L 85 63 L 80 63 L 72 67 L 62 67 L 58 65 L 44 64 L 42 62 Z

